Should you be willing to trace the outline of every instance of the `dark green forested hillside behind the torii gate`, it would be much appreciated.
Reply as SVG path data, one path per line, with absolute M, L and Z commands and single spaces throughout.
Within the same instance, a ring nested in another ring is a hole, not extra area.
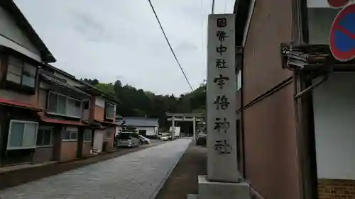
M 158 118 L 160 127 L 167 127 L 166 113 L 203 113 L 206 103 L 206 84 L 195 91 L 183 93 L 179 97 L 155 95 L 151 91 L 136 89 L 129 84 L 116 80 L 105 84 L 97 79 L 84 79 L 104 92 L 111 93 L 121 101 L 116 105 L 116 113 L 124 117 Z

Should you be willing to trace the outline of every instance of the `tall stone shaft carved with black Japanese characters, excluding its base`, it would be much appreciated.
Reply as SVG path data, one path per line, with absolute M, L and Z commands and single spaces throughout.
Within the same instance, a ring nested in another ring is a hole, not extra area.
M 235 16 L 209 15 L 207 146 L 210 180 L 237 181 Z M 218 171 L 218 172 L 216 172 Z

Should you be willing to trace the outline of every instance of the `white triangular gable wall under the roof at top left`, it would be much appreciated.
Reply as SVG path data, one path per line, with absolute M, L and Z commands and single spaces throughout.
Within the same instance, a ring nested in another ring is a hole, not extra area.
M 16 25 L 4 8 L 0 7 L 0 45 L 10 47 L 37 61 L 40 59 L 40 51 L 28 40 L 26 35 Z

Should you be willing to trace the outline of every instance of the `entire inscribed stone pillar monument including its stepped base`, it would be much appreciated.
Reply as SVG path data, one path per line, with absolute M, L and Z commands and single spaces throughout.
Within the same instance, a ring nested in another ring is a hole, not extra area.
M 238 171 L 234 14 L 209 15 L 207 45 L 207 176 L 199 199 L 250 199 Z

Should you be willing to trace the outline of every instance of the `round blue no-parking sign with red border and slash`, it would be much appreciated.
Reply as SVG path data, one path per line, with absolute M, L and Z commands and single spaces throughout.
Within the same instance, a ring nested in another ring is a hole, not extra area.
M 339 61 L 355 57 L 355 4 L 342 9 L 330 30 L 330 50 Z

